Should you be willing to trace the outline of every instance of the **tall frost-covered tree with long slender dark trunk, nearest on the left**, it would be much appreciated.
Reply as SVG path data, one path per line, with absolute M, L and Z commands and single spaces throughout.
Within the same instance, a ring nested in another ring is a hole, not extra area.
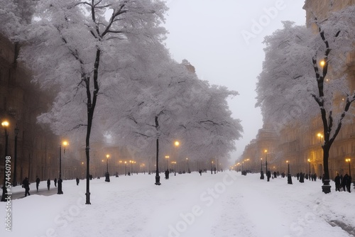
M 138 57 L 135 42 L 148 47 L 163 39 L 166 6 L 159 0 L 39 0 L 35 10 L 22 57 L 34 81 L 58 94 L 40 121 L 60 135 L 84 131 L 90 204 L 90 135 L 101 128 L 99 97 L 120 78 L 126 62 Z

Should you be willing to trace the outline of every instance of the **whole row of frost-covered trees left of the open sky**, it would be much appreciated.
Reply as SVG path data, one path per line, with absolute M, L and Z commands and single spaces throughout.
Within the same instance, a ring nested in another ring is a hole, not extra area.
M 33 82 L 55 95 L 38 121 L 77 143 L 85 139 L 86 204 L 92 139 L 126 145 L 135 157 L 156 152 L 157 160 L 175 139 L 192 160 L 226 158 L 235 149 L 242 127 L 226 99 L 238 93 L 210 86 L 171 59 L 163 44 L 164 1 L 0 3 L 1 33 L 26 45 L 20 58 Z

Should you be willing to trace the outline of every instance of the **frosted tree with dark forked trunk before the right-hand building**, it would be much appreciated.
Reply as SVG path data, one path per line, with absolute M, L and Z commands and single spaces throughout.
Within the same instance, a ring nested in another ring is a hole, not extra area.
M 329 180 L 329 149 L 342 124 L 355 115 L 355 92 L 345 73 L 346 58 L 355 50 L 355 7 L 331 13 L 324 21 L 314 18 L 313 23 L 317 32 L 285 22 L 282 30 L 265 38 L 257 106 L 278 128 L 322 118 L 324 177 Z M 329 185 L 323 192 L 330 192 Z

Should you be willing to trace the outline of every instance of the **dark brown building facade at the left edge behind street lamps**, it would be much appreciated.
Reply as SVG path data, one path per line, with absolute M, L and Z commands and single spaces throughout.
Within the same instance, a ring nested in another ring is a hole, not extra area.
M 51 180 L 58 177 L 58 138 L 49 129 L 36 123 L 36 116 L 45 111 L 48 94 L 31 83 L 31 74 L 17 62 L 19 45 L 0 35 L 0 121 L 8 121 L 8 155 L 11 157 L 11 182 L 25 177 Z M 16 129 L 17 130 L 17 129 Z M 0 128 L 0 182 L 4 175 L 5 128 Z

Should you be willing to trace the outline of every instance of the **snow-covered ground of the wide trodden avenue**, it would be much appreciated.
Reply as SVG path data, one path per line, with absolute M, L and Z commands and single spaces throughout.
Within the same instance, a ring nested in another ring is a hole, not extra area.
M 354 192 L 335 192 L 332 182 L 324 194 L 320 180 L 293 177 L 291 185 L 259 176 L 192 172 L 165 180 L 161 173 L 160 186 L 147 173 L 95 179 L 91 205 L 84 204 L 84 180 L 67 180 L 64 194 L 48 197 L 34 195 L 31 184 L 31 196 L 11 202 L 11 232 L 0 203 L 0 236 L 355 236 Z

